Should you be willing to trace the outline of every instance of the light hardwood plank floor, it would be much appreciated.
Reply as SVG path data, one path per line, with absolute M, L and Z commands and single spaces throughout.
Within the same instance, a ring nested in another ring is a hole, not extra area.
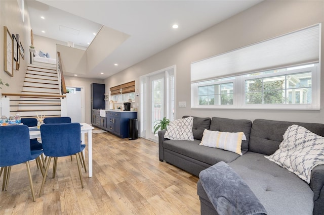
M 51 164 L 41 197 L 41 171 L 34 161 L 30 166 L 36 202 L 26 165 L 16 165 L 8 190 L 0 190 L 0 214 L 200 214 L 198 178 L 159 162 L 158 144 L 142 138 L 93 134 L 93 177 L 82 169 L 83 189 L 75 156 L 73 162 L 69 156 L 58 159 L 55 179 Z

